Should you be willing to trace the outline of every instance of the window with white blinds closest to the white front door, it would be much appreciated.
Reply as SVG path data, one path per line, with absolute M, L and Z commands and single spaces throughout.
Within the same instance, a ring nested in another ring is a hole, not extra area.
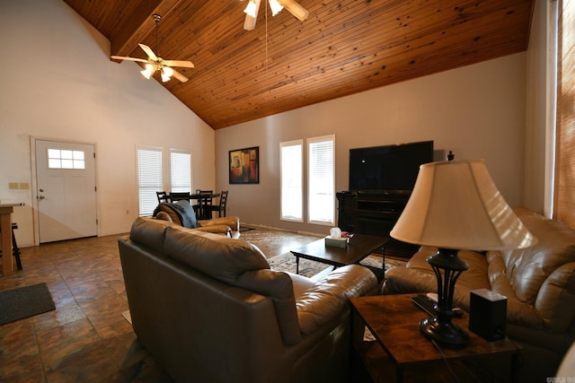
M 137 149 L 137 193 L 139 215 L 151 216 L 158 205 L 156 191 L 162 191 L 162 149 Z

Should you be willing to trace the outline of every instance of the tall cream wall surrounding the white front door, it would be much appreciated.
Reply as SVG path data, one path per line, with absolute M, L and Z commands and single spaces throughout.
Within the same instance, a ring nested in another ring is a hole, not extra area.
M 192 152 L 193 186 L 214 187 L 211 127 L 136 64 L 112 62 L 108 39 L 62 0 L 3 0 L 0 13 L 0 201 L 26 204 L 13 213 L 20 246 L 34 241 L 36 194 L 8 182 L 32 184 L 31 137 L 96 145 L 99 235 L 137 217 L 137 145 Z

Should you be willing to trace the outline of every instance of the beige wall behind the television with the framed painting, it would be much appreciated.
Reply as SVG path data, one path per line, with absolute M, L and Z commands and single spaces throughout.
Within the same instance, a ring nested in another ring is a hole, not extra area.
M 433 74 L 216 131 L 217 188 L 229 213 L 252 222 L 325 233 L 279 220 L 279 143 L 336 135 L 336 189 L 348 188 L 349 148 L 433 140 L 436 161 L 483 158 L 509 205 L 524 203 L 526 53 Z M 260 147 L 260 184 L 229 185 L 227 153 Z

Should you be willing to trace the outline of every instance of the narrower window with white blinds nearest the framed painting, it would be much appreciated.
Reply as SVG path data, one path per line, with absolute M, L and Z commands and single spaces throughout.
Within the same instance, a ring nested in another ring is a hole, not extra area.
M 303 222 L 304 219 L 304 141 L 279 144 L 281 219 Z

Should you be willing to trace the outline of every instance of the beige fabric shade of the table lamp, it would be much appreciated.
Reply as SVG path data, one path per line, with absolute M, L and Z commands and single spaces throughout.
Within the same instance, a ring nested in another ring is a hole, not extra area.
M 483 160 L 420 166 L 394 239 L 437 248 L 528 248 L 537 239 L 501 196 Z

